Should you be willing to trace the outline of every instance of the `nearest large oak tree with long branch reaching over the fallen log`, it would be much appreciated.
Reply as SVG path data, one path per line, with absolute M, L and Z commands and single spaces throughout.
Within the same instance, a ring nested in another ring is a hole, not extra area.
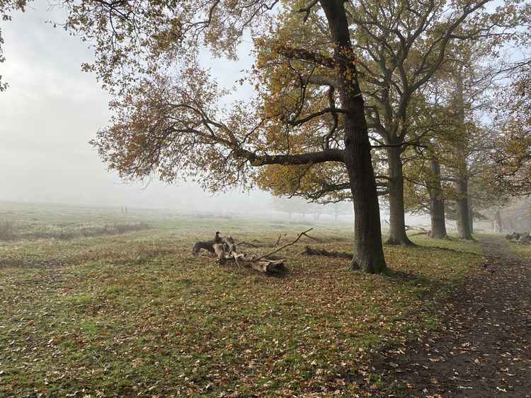
M 383 271 L 375 175 L 345 3 L 310 1 L 302 9 L 277 3 L 67 3 L 67 27 L 96 42 L 96 62 L 86 69 L 117 95 L 111 103 L 115 116 L 93 144 L 124 178 L 191 175 L 214 190 L 252 184 L 254 168 L 264 165 L 342 164 L 355 211 L 353 267 Z M 307 19 L 309 30 L 326 33 L 326 45 L 282 35 L 259 40 L 263 32 L 275 35 L 290 14 Z M 282 86 L 271 88 L 272 66 L 257 62 L 251 78 L 258 96 L 225 109 L 224 90 L 201 68 L 198 53 L 206 48 L 234 57 L 247 33 L 258 52 L 282 63 L 273 76 Z M 319 128 L 325 117 L 338 120 L 341 136 Z

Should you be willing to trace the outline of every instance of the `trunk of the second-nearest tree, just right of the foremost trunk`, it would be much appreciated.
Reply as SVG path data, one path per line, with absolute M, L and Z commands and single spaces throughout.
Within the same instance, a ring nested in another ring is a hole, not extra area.
M 404 175 L 400 147 L 387 148 L 389 162 L 389 245 L 413 245 L 406 234 Z

